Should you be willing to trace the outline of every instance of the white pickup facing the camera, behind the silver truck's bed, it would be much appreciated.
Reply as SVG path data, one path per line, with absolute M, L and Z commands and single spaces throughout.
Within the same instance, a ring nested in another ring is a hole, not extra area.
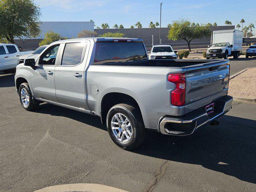
M 170 45 L 154 45 L 148 53 L 149 59 L 177 59 L 176 52 Z

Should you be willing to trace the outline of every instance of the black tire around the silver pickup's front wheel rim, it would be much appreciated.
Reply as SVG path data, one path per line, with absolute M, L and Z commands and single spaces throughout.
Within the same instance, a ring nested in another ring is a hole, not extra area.
M 26 92 L 28 93 L 28 98 L 29 98 L 28 105 L 26 105 L 26 104 L 24 104 L 24 103 L 22 102 L 22 98 L 21 98 L 21 91 L 22 91 L 22 89 L 25 89 Z M 22 107 L 23 107 L 24 109 L 26 109 L 26 110 L 28 110 L 28 111 L 32 111 L 32 110 L 38 108 L 39 102 L 36 101 L 35 99 L 33 99 L 32 93 L 31 93 L 30 88 L 29 88 L 29 86 L 28 86 L 28 83 L 22 83 L 22 84 L 20 85 L 20 88 L 19 88 L 19 96 L 20 96 L 20 104 L 22 105 Z

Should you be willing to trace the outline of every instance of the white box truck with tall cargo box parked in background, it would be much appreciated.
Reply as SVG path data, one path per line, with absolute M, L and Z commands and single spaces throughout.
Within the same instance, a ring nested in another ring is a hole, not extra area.
M 208 46 L 206 59 L 233 56 L 238 58 L 242 52 L 243 32 L 235 29 L 214 31 L 212 45 Z

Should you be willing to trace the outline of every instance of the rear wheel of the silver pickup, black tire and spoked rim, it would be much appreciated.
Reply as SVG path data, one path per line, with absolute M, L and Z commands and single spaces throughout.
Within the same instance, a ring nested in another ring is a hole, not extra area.
M 140 146 L 146 138 L 146 130 L 140 111 L 129 104 L 113 106 L 107 115 L 107 128 L 113 142 L 125 150 Z

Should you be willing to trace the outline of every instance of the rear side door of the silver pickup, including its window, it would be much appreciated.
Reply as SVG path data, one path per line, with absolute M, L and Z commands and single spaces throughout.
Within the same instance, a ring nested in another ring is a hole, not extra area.
M 81 109 L 85 109 L 86 45 L 84 40 L 66 43 L 54 76 L 56 97 L 60 103 Z

